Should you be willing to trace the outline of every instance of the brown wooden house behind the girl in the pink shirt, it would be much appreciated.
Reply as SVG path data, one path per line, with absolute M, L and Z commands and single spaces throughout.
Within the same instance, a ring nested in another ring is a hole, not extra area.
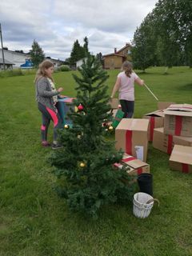
M 130 54 L 130 48 L 131 45 L 126 43 L 126 46 L 122 47 L 122 49 L 117 50 L 117 48 L 114 48 L 114 53 L 103 55 L 104 69 L 120 69 L 122 67 L 122 63 L 126 61 Z

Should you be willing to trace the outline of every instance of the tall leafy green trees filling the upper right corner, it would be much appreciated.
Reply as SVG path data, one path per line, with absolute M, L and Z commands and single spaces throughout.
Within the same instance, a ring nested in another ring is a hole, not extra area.
M 192 1 L 159 0 L 134 33 L 134 67 L 192 67 Z M 166 72 L 165 70 L 165 72 Z

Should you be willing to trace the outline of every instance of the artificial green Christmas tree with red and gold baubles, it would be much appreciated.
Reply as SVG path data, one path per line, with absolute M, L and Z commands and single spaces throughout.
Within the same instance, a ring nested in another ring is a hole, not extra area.
M 98 217 L 101 206 L 132 198 L 133 182 L 125 169 L 114 170 L 122 158 L 114 142 L 107 138 L 111 119 L 107 86 L 108 75 L 97 58 L 89 55 L 74 74 L 77 82 L 78 112 L 72 111 L 73 127 L 60 133 L 62 149 L 50 158 L 58 177 L 58 192 L 71 210 Z M 111 127 L 110 127 L 111 128 Z

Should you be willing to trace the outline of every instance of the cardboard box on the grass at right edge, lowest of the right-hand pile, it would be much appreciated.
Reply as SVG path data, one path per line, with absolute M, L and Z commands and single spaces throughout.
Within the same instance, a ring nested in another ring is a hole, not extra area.
M 192 147 L 174 145 L 170 155 L 170 169 L 179 170 L 182 173 L 192 173 Z

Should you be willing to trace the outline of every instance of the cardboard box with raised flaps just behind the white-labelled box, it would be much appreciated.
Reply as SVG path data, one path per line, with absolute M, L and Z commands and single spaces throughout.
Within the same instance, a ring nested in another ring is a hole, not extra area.
M 162 127 L 164 125 L 164 113 L 162 110 L 156 110 L 154 112 L 145 114 L 142 118 L 149 119 L 148 139 L 149 142 L 153 142 L 154 128 Z

